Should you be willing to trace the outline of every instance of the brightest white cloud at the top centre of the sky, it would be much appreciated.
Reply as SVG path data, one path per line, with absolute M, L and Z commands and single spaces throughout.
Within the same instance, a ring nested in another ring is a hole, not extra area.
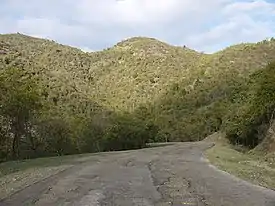
M 103 24 L 148 24 L 161 22 L 176 15 L 178 0 L 101 0 L 98 3 L 82 0 L 77 5 L 79 17 L 83 21 Z M 188 1 L 187 1 L 188 2 Z

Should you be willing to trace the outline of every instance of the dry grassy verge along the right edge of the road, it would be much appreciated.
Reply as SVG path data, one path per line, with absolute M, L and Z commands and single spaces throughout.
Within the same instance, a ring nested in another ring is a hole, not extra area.
M 222 139 L 222 138 L 221 138 Z M 275 190 L 274 154 L 241 152 L 226 141 L 216 141 L 206 156 L 217 168 L 256 185 Z

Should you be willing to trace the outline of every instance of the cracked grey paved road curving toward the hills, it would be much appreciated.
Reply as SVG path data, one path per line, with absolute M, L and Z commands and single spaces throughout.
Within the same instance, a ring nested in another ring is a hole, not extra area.
M 13 195 L 2 205 L 275 206 L 275 192 L 210 166 L 209 143 L 177 143 L 85 157 L 81 164 Z

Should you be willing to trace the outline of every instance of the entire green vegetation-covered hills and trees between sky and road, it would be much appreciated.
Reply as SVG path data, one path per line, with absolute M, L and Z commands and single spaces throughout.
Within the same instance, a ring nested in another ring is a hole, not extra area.
M 274 54 L 273 39 L 207 55 L 152 38 L 84 53 L 1 35 L 0 160 L 194 141 L 218 130 L 254 147 L 273 118 Z

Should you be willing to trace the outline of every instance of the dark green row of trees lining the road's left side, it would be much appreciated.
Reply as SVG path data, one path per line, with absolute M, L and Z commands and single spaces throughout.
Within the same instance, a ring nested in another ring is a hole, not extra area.
M 158 131 L 126 113 L 62 111 L 39 81 L 21 69 L 0 72 L 2 160 L 140 148 Z

